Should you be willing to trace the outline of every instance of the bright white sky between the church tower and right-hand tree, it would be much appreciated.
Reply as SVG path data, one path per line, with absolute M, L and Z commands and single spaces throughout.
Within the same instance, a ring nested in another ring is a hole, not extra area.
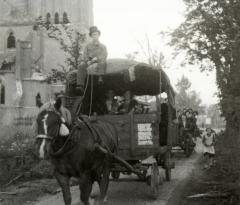
M 108 58 L 125 58 L 137 51 L 138 60 L 146 59 L 149 40 L 152 50 L 165 56 L 166 72 L 175 85 L 182 75 L 189 78 L 192 90 L 200 94 L 203 104 L 216 103 L 215 73 L 201 73 L 198 65 L 181 67 L 183 58 L 174 59 L 166 46 L 163 31 L 176 28 L 184 20 L 181 0 L 94 0 L 94 24 L 101 30 L 101 42 L 107 46 Z

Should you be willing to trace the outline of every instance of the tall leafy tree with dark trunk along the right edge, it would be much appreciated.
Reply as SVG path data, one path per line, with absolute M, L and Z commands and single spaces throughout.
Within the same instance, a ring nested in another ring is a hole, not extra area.
M 172 33 L 171 45 L 177 51 L 185 50 L 188 62 L 200 63 L 202 71 L 216 70 L 221 110 L 226 119 L 228 162 L 232 173 L 237 174 L 240 170 L 240 1 L 183 1 L 186 19 Z

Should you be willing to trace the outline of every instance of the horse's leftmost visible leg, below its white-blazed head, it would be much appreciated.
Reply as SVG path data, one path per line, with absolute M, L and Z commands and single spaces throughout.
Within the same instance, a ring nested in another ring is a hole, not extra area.
M 58 172 L 54 173 L 58 184 L 60 185 L 63 193 L 63 200 L 65 205 L 71 205 L 72 203 L 72 197 L 70 192 L 70 183 L 69 183 L 69 177 L 63 176 Z

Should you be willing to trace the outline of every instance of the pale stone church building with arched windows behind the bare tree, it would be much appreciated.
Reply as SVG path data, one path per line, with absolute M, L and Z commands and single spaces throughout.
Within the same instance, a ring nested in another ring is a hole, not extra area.
M 0 0 L 0 124 L 35 113 L 36 96 L 48 101 L 61 85 L 49 85 L 32 77 L 64 65 L 59 43 L 42 30 L 36 19 L 70 24 L 87 33 L 93 25 L 92 0 Z M 4 120 L 3 120 L 4 119 Z

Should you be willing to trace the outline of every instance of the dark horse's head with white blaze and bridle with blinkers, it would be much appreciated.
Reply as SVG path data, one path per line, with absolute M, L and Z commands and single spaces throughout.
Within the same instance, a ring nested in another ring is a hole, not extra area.
M 69 135 L 60 107 L 61 102 L 57 100 L 53 109 L 45 109 L 37 116 L 36 150 L 40 159 L 49 158 L 53 141 Z

